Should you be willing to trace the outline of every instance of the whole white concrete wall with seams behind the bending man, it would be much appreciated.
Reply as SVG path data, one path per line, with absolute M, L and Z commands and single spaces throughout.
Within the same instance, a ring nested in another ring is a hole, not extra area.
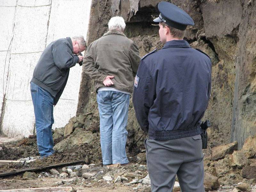
M 58 38 L 86 38 L 90 7 L 91 0 L 0 0 L 3 134 L 17 138 L 33 134 L 35 117 L 29 82 L 37 60 L 44 48 Z M 70 69 L 66 88 L 54 108 L 53 128 L 64 126 L 75 116 L 81 72 L 78 64 Z

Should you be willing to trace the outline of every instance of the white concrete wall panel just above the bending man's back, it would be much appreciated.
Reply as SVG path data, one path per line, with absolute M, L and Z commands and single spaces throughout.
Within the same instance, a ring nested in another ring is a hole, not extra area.
M 43 51 L 50 6 L 17 6 L 12 53 Z

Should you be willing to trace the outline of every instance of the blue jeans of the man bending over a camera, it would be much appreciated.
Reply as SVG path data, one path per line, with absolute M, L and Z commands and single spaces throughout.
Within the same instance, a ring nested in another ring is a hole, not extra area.
M 54 153 L 52 139 L 53 119 L 53 97 L 52 95 L 38 86 L 30 83 L 30 92 L 34 105 L 36 117 L 36 141 L 41 158 L 47 157 Z

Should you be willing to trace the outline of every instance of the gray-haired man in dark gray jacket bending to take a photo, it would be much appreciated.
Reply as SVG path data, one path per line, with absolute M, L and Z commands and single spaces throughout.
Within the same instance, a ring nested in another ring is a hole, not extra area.
M 52 139 L 53 105 L 67 84 L 69 68 L 83 60 L 76 55 L 86 49 L 83 36 L 67 37 L 50 43 L 34 69 L 30 91 L 36 117 L 36 140 L 41 158 L 54 153 Z

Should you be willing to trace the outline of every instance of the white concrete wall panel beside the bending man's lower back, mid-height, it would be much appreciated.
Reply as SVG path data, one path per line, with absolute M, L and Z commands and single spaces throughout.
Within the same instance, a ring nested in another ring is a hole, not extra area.
M 9 67 L 6 98 L 9 100 L 31 100 L 30 80 L 41 52 L 12 54 Z

